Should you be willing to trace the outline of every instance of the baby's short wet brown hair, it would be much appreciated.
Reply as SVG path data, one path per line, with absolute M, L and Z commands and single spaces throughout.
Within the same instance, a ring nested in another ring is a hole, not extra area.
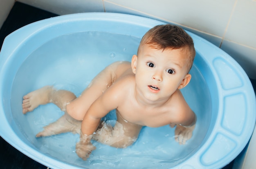
M 184 49 L 188 53 L 188 72 L 195 58 L 195 47 L 191 36 L 184 29 L 172 24 L 157 25 L 150 29 L 141 39 L 140 47 L 148 44 L 155 49 Z

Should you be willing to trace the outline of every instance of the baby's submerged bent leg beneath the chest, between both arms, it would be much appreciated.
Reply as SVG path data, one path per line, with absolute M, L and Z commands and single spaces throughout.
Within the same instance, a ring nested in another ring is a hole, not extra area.
M 141 128 L 142 126 L 126 122 L 117 113 L 115 126 L 111 127 L 103 122 L 92 139 L 112 147 L 125 148 L 137 140 Z

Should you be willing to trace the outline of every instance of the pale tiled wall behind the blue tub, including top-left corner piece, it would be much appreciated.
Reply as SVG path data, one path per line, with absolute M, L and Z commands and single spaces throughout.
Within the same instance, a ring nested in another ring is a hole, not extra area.
M 106 11 L 178 24 L 221 47 L 240 63 L 250 78 L 256 79 L 256 0 L 18 1 L 59 15 Z M 0 1 L 2 18 L 7 16 L 10 2 L 13 3 L 14 0 Z

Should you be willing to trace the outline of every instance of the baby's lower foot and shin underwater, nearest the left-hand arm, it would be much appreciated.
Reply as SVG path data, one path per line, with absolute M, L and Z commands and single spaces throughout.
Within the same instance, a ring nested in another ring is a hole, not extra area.
M 52 136 L 60 133 L 72 132 L 80 133 L 81 121 L 75 120 L 65 113 L 56 122 L 53 122 L 44 127 L 44 130 L 39 132 L 36 137 Z

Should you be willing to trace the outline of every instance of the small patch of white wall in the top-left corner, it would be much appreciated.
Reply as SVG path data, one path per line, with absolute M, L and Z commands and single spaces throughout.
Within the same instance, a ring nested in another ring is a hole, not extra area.
M 15 0 L 0 0 L 0 27 L 6 20 Z

